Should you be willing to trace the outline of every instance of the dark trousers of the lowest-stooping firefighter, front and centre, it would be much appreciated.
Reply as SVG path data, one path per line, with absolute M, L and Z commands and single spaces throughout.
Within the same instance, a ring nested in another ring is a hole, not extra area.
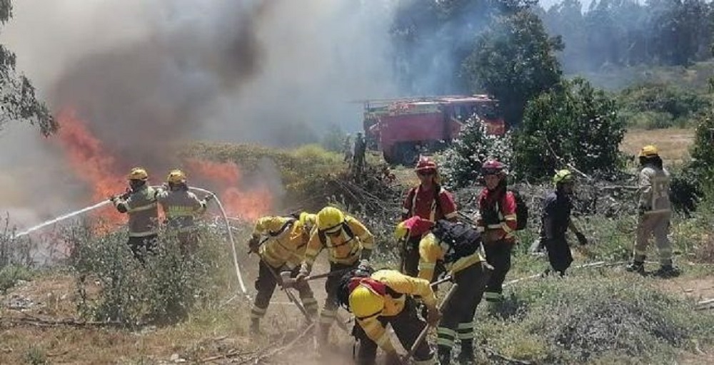
M 426 322 L 423 322 L 423 320 L 419 319 L 416 315 L 416 303 L 412 298 L 406 299 L 404 309 L 402 309 L 399 314 L 393 317 L 379 317 L 379 322 L 381 322 L 385 328 L 387 324 L 391 324 L 394 333 L 407 351 L 411 349 L 411 346 L 414 344 L 414 341 L 416 341 L 421 330 L 426 327 Z M 375 364 L 377 344 L 367 336 L 359 324 L 355 324 L 353 335 L 357 338 L 357 341 L 359 341 L 357 364 Z M 421 344 L 419 344 L 414 353 L 414 364 L 434 364 L 433 352 L 429 348 L 426 339 L 421 341 Z

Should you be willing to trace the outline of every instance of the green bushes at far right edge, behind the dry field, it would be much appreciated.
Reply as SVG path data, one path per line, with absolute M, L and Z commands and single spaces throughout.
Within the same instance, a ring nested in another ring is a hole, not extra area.
M 707 96 L 663 83 L 626 88 L 618 104 L 628 125 L 646 129 L 684 127 L 693 115 L 712 107 Z

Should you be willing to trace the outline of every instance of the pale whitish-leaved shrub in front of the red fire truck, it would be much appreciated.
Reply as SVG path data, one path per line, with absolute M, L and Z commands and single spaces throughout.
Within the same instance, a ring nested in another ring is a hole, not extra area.
M 510 132 L 503 137 L 489 135 L 479 118 L 470 118 L 453 144 L 438 156 L 443 185 L 448 189 L 473 185 L 481 178 L 481 165 L 488 158 L 510 165 L 511 153 Z

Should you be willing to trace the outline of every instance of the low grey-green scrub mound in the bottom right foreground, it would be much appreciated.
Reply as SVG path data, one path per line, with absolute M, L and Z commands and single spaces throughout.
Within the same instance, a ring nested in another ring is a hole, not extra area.
M 506 356 L 547 364 L 671 362 L 712 334 L 714 317 L 633 274 L 583 272 L 518 284 L 514 315 L 480 312 L 478 336 Z

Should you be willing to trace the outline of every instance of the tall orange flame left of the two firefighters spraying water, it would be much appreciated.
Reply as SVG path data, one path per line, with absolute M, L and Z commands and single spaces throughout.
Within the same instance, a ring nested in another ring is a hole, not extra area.
M 80 120 L 74 109 L 65 108 L 57 115 L 61 128 L 57 133 L 59 144 L 76 176 L 92 189 L 92 200 L 106 200 L 111 195 L 124 190 L 124 178 L 114 175 L 116 160 L 104 151 L 101 140 L 92 135 L 86 124 Z M 115 210 L 109 214 L 102 212 L 102 220 L 114 225 L 125 218 Z

